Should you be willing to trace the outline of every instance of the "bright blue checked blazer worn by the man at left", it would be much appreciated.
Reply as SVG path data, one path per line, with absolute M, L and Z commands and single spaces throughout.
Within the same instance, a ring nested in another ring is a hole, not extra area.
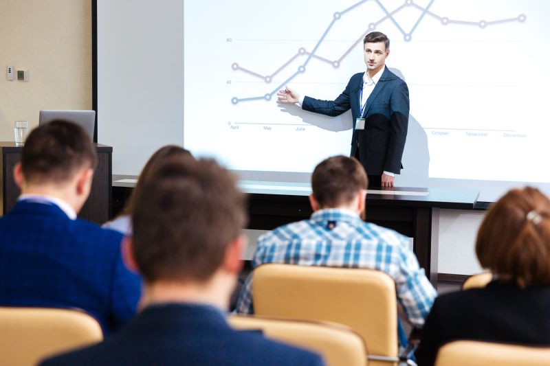
M 0 218 L 0 306 L 80 308 L 104 332 L 135 314 L 141 280 L 122 263 L 122 234 L 19 201 Z

